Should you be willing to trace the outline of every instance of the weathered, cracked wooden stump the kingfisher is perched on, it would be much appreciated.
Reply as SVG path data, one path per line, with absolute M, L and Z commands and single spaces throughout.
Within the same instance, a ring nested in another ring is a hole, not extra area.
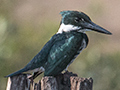
M 92 78 L 80 78 L 67 72 L 56 77 L 45 76 L 38 83 L 31 84 L 27 74 L 8 78 L 6 90 L 92 90 Z

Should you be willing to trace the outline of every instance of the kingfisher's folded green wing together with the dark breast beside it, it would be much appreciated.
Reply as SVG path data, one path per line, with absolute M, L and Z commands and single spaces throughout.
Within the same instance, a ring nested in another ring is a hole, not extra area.
M 63 71 L 86 47 L 83 33 L 67 33 L 56 37 L 45 65 L 45 75 L 56 75 Z

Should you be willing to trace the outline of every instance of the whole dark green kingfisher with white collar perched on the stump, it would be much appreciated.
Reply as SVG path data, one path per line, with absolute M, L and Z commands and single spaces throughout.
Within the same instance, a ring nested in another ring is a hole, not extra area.
M 6 77 L 24 72 L 33 72 L 33 79 L 44 72 L 44 76 L 56 76 L 67 71 L 68 66 L 88 45 L 86 31 L 112 33 L 93 23 L 89 16 L 79 11 L 62 11 L 59 30 L 43 46 L 41 51 L 22 69 Z

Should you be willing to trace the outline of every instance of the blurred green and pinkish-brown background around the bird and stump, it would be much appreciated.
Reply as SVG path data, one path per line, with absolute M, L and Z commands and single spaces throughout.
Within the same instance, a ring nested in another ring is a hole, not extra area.
M 87 32 L 88 47 L 69 71 L 92 77 L 93 90 L 120 90 L 120 0 L 0 0 L 0 90 L 4 76 L 23 68 L 57 32 L 63 10 L 83 11 L 113 33 Z

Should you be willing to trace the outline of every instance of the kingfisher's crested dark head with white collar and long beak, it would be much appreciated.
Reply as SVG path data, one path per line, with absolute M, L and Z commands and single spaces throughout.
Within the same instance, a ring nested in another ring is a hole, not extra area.
M 96 25 L 91 19 L 83 12 L 78 11 L 62 11 L 62 20 L 60 28 L 57 33 L 70 32 L 70 31 L 97 31 L 104 34 L 111 35 L 112 33 L 104 28 Z

